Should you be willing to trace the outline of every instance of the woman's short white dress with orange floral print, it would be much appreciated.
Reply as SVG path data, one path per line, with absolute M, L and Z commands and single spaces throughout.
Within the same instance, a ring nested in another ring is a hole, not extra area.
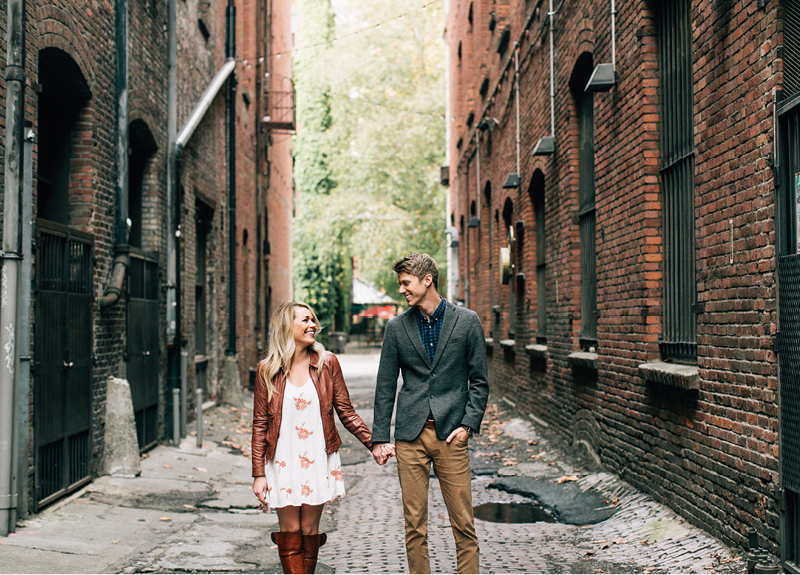
M 267 461 L 270 509 L 321 505 L 344 495 L 339 453 L 325 452 L 319 396 L 309 377 L 302 387 L 286 382 L 275 455 Z

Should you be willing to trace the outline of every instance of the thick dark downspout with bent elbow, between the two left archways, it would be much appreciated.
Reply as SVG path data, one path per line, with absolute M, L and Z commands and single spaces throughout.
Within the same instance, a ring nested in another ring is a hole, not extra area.
M 101 308 L 117 303 L 122 295 L 125 271 L 130 265 L 128 236 L 128 0 L 117 0 L 115 15 L 117 56 L 117 210 L 114 222 L 114 264 Z

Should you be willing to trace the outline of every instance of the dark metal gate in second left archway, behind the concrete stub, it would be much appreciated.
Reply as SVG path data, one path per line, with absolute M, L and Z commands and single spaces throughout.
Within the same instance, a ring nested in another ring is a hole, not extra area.
M 139 450 L 158 442 L 158 255 L 131 250 L 128 383 Z

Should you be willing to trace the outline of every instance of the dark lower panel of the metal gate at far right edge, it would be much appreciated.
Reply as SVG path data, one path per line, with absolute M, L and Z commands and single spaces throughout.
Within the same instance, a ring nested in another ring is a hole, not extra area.
M 778 260 L 781 484 L 800 492 L 800 254 Z

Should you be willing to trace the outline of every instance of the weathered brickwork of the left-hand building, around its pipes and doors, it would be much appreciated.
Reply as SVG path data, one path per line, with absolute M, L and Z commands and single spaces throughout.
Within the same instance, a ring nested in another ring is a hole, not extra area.
M 289 6 L 276 4 L 279 18 L 273 20 L 269 42 L 286 49 L 291 42 Z M 266 325 L 263 321 L 270 288 L 281 297 L 290 294 L 290 216 L 292 193 L 292 160 L 290 139 L 272 146 L 269 154 L 274 173 L 268 186 L 265 169 L 266 135 L 258 125 L 258 59 L 263 29 L 265 0 L 237 0 L 237 97 L 236 115 L 236 184 L 237 233 L 236 277 L 229 277 L 229 213 L 228 213 L 228 132 L 227 89 L 223 88 L 192 136 L 183 155 L 182 191 L 180 195 L 180 274 L 181 321 L 185 349 L 189 353 L 189 389 L 197 387 L 194 357 L 195 341 L 195 283 L 197 227 L 196 201 L 212 209 L 213 218 L 206 246 L 207 277 L 207 334 L 209 392 L 219 391 L 220 367 L 228 349 L 228 290 L 237 286 L 236 338 L 240 374 L 244 384 L 248 368 L 255 366 L 263 353 Z M 227 2 L 208 3 L 186 0 L 177 3 L 178 61 L 177 61 L 177 127 L 180 129 L 193 111 L 209 82 L 225 60 L 225 11 Z M 39 132 L 40 50 L 57 49 L 64 62 L 74 68 L 72 77 L 85 83 L 91 97 L 83 102 L 72 130 L 69 167 L 69 193 L 66 199 L 64 224 L 91 234 L 94 241 L 93 295 L 103 295 L 113 267 L 115 255 L 114 224 L 116 214 L 116 114 L 115 94 L 115 4 L 113 2 L 28 2 L 26 18 L 26 58 L 28 81 L 25 92 L 25 118 Z M 142 181 L 141 249 L 157 253 L 159 262 L 159 312 L 152 318 L 159 332 L 159 418 L 158 437 L 166 439 L 166 408 L 171 401 L 167 384 L 166 334 L 166 264 L 167 264 L 167 3 L 150 0 L 129 0 L 129 121 L 135 123 L 137 134 L 145 134 L 154 143 L 154 151 L 144 164 Z M 5 9 L 0 11 L 0 65 L 5 68 Z M 280 29 L 278 29 L 280 27 Z M 290 64 L 290 58 L 284 62 Z M 291 76 L 291 68 L 283 70 Z M 76 80 L 77 81 L 77 80 Z M 5 80 L 0 75 L 0 127 L 5 126 Z M 0 142 L 5 137 L 4 130 Z M 41 144 L 34 147 L 34 210 L 37 209 L 37 175 Z M 262 151 L 259 156 L 258 150 Z M 4 146 L 0 144 L 0 157 Z M 0 160 L 0 173 L 3 170 Z M 277 201 L 289 210 L 273 210 L 270 225 L 278 237 L 279 273 L 268 274 L 260 259 L 259 225 L 266 211 Z M 288 198 L 288 201 L 287 201 Z M 35 214 L 36 215 L 36 214 Z M 0 222 L 2 219 L 0 218 Z M 1 229 L 1 228 L 0 228 Z M 29 253 L 25 247 L 26 254 Z M 33 261 L 34 273 L 37 262 Z M 260 283 L 259 278 L 260 271 Z M 127 289 L 126 284 L 123 291 Z M 35 302 L 35 296 L 33 297 Z M 35 319 L 36 309 L 30 311 Z M 91 381 L 91 473 L 97 472 L 103 452 L 105 389 L 109 376 L 126 378 L 128 359 L 126 295 L 114 305 L 101 309 L 95 299 L 92 312 L 92 381 Z M 37 326 L 32 326 L 35 340 Z M 39 350 L 39 354 L 43 353 Z M 33 349 L 34 362 L 37 350 Z M 41 357 L 39 358 L 41 359 Z M 31 419 L 26 426 L 31 443 L 23 456 L 31 463 L 31 475 L 26 489 L 33 500 L 36 458 L 35 392 L 36 377 L 32 378 Z M 194 396 L 189 398 L 190 407 Z

